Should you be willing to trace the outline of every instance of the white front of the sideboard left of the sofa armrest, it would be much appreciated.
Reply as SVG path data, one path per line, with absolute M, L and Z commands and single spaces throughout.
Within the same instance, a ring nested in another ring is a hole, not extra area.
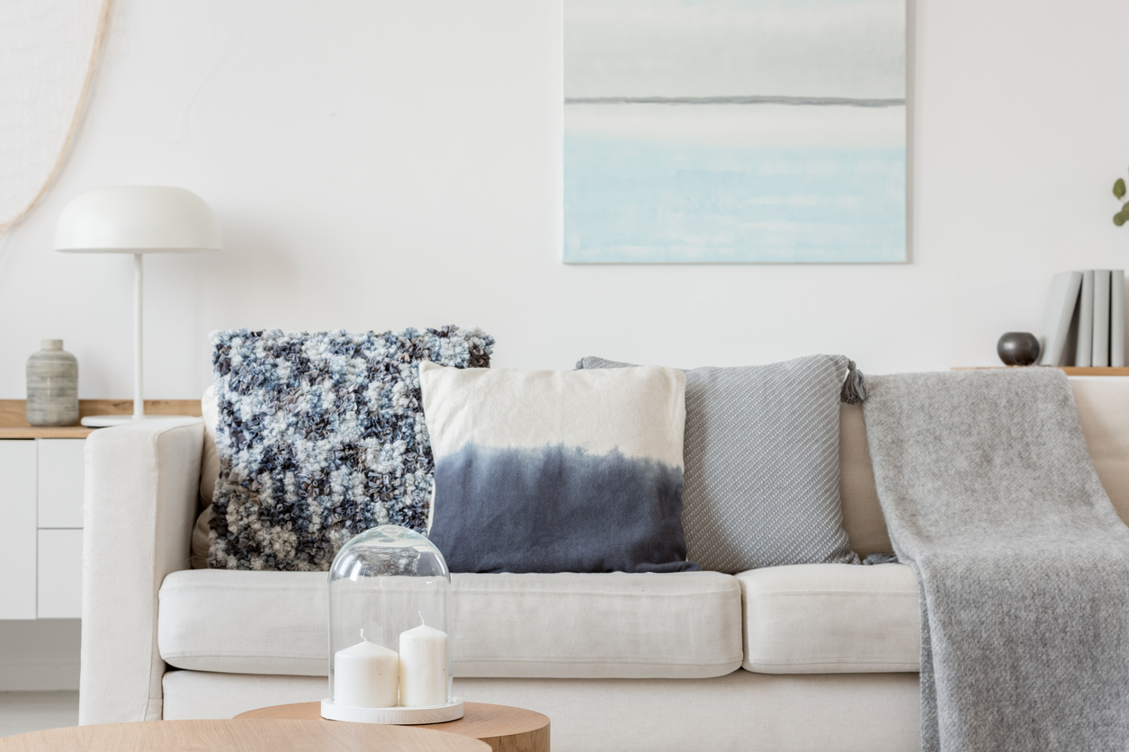
M 81 617 L 85 444 L 0 439 L 0 619 Z

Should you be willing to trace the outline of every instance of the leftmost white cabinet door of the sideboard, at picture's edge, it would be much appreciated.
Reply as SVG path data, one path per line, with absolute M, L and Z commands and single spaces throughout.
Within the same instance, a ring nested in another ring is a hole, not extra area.
M 0 619 L 35 619 L 35 441 L 0 440 Z

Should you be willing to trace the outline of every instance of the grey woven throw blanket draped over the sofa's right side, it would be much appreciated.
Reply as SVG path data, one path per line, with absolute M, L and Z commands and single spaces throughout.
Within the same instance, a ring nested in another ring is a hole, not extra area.
M 1066 376 L 868 382 L 878 499 L 920 593 L 922 751 L 1124 752 L 1129 527 Z

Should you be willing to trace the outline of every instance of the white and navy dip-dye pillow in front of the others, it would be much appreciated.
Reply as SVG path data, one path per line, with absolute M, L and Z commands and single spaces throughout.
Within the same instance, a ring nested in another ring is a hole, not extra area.
M 685 376 L 421 364 L 452 571 L 683 571 Z

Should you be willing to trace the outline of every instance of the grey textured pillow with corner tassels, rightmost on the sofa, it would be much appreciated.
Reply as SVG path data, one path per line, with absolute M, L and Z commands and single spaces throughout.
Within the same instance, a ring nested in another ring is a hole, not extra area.
M 728 574 L 858 563 L 839 499 L 839 402 L 848 365 L 842 356 L 809 356 L 685 371 L 688 559 Z M 628 366 L 603 358 L 577 364 Z

